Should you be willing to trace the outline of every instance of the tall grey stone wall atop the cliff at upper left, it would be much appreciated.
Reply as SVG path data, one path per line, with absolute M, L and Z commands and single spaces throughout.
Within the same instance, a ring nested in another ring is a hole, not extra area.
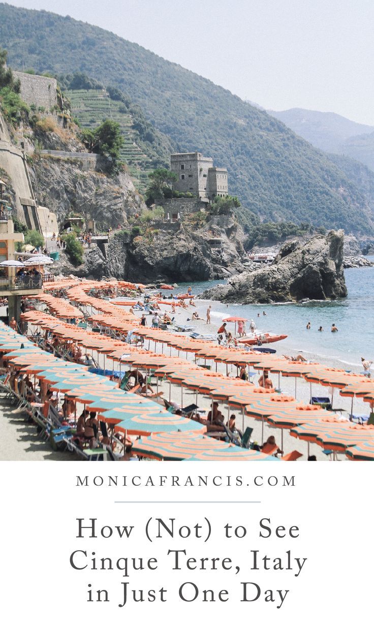
M 21 82 L 21 98 L 26 104 L 35 104 L 43 107 L 46 113 L 51 113 L 57 105 L 57 81 L 54 78 L 13 72 L 14 77 Z

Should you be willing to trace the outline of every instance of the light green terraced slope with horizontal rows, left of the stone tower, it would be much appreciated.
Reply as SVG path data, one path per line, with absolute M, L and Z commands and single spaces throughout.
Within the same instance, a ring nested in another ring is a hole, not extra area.
M 95 128 L 104 119 L 119 123 L 124 137 L 121 159 L 129 168 L 135 186 L 144 193 L 148 182 L 148 173 L 160 164 L 169 162 L 165 149 L 157 149 L 149 141 L 142 140 L 138 130 L 137 117 L 123 102 L 111 99 L 106 89 L 66 90 L 71 101 L 72 114 L 84 128 Z M 137 107 L 139 108 L 139 107 Z M 139 114 L 139 111 L 137 111 Z

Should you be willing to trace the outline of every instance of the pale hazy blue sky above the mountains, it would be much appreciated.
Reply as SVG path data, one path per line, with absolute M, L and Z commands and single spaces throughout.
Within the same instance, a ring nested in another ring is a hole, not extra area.
M 265 109 L 374 125 L 374 0 L 8 0 L 115 32 Z

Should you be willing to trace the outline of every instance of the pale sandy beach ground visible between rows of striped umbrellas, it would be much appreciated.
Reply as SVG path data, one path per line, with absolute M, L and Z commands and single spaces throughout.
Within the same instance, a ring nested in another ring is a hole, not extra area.
M 217 329 L 219 328 L 222 318 L 224 318 L 224 314 L 215 313 L 214 301 L 205 301 L 205 300 L 195 300 L 195 307 L 188 306 L 187 310 L 184 308 L 177 308 L 175 314 L 175 323 L 181 325 L 192 325 L 195 327 L 195 330 L 201 334 L 214 334 L 217 336 Z M 207 307 L 211 305 L 211 323 L 206 323 L 206 311 Z M 170 313 L 169 305 L 160 305 L 161 314 L 164 311 Z M 194 321 L 192 323 L 189 319 L 192 318 L 192 313 L 197 311 L 199 316 L 202 319 Z M 135 316 L 140 319 L 141 312 L 134 311 Z M 147 316 L 147 324 L 150 326 L 152 324 L 152 315 Z M 267 326 L 271 329 L 271 322 L 267 321 Z M 227 328 L 229 331 L 234 333 L 234 323 L 229 323 Z M 247 333 L 249 332 L 249 323 L 247 323 Z M 183 335 L 183 334 L 181 334 Z M 186 334 L 187 335 L 187 334 Z M 217 341 L 215 341 L 217 344 Z M 278 354 L 290 354 L 295 355 L 295 351 L 291 351 L 287 349 L 287 346 L 282 344 L 282 342 L 273 343 L 272 348 L 277 349 Z M 151 351 L 156 351 L 160 353 L 161 345 L 157 343 L 153 343 L 150 341 L 148 343 L 145 341 L 145 348 L 150 348 Z M 300 345 L 300 351 L 302 350 L 302 345 Z M 164 350 L 164 353 L 169 354 L 170 348 Z M 172 349 L 172 356 L 180 356 L 180 358 L 187 359 L 188 361 L 194 361 L 194 354 L 192 353 L 179 353 L 178 351 Z M 97 358 L 99 366 L 104 366 L 104 356 L 100 354 Z M 200 364 L 204 364 L 204 361 L 200 361 Z M 216 366 L 213 361 L 207 361 L 208 365 L 212 366 L 212 370 L 215 370 Z M 330 366 L 339 367 L 339 363 L 334 361 L 334 359 L 330 359 L 330 361 L 323 360 L 323 364 L 328 364 Z M 109 360 L 106 359 L 106 368 L 112 368 L 112 363 L 109 364 Z M 114 366 L 115 369 L 119 368 L 117 364 Z M 123 366 L 122 366 L 123 370 Z M 217 371 L 226 375 L 227 372 L 229 376 L 235 377 L 237 372 L 234 366 L 229 366 L 228 371 L 226 370 L 225 364 L 217 364 Z M 357 367 L 357 371 L 360 369 Z M 258 378 L 261 373 L 257 371 L 250 371 L 253 374 L 251 375 L 251 381 L 256 386 L 258 385 Z M 301 378 L 287 378 L 282 377 L 278 378 L 278 374 L 270 374 L 270 379 L 272 379 L 274 388 L 278 389 L 278 384 L 280 384 L 280 389 L 283 393 L 289 394 L 292 396 L 296 396 L 298 401 L 302 401 L 305 403 L 310 402 L 310 396 L 330 396 L 332 398 L 332 389 L 326 388 L 323 386 L 319 386 L 318 384 L 312 384 L 312 388 L 310 384 Z M 154 388 L 155 389 L 155 388 Z M 159 381 L 158 390 L 163 392 L 163 396 L 171 401 L 176 402 L 180 406 L 188 406 L 189 404 L 195 403 L 196 395 L 193 391 L 189 391 L 184 388 L 181 390 L 180 386 L 172 385 L 170 389 L 170 384 L 167 381 Z M 162 398 L 159 399 L 159 402 L 162 403 Z M 200 414 L 207 414 L 211 406 L 211 400 L 207 396 L 198 396 L 197 404 L 199 406 Z M 346 415 L 351 411 L 351 399 L 347 397 L 341 397 L 338 389 L 335 389 L 333 396 L 333 408 L 334 409 L 342 409 L 346 411 Z M 222 402 L 220 403 L 219 409 L 224 414 L 225 422 L 228 419 L 229 411 L 227 405 Z M 369 405 L 362 401 L 362 399 L 355 399 L 353 404 L 353 413 L 359 414 L 368 414 L 369 413 Z M 294 437 L 291 437 L 288 429 L 277 429 L 277 427 L 270 427 L 268 424 L 263 425 L 262 430 L 262 422 L 257 421 L 254 418 L 243 416 L 239 410 L 231 409 L 230 414 L 235 414 L 236 422 L 238 429 L 245 431 L 246 427 L 252 427 L 253 432 L 251 439 L 258 444 L 262 444 L 262 440 L 266 441 L 267 437 L 270 435 L 274 435 L 276 442 L 279 447 L 283 449 L 284 454 L 287 454 L 290 451 L 296 450 L 302 453 L 302 457 L 299 461 L 306 460 L 308 457 L 308 444 L 307 442 L 300 441 Z M 79 414 L 79 411 L 78 411 Z M 72 459 L 76 459 L 76 457 L 72 456 L 69 452 L 55 452 L 52 451 L 49 446 L 49 442 L 42 441 L 39 437 L 37 437 L 36 429 L 32 424 L 29 424 L 25 421 L 25 414 L 17 410 L 14 406 L 11 406 L 9 402 L 0 398 L 0 459 L 1 460 L 16 460 L 16 461 L 42 461 L 42 460 L 52 460 L 52 461 L 69 461 Z M 315 455 L 318 461 L 329 461 L 330 458 L 323 453 L 322 447 L 317 444 L 310 444 L 309 454 Z M 346 457 L 344 454 L 338 454 L 337 458 L 341 461 L 346 461 Z

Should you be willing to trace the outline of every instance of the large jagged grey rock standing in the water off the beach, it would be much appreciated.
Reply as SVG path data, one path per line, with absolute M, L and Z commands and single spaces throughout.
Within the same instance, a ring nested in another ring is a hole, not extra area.
M 272 265 L 230 278 L 201 298 L 226 303 L 277 303 L 347 296 L 343 273 L 343 230 L 285 243 Z

